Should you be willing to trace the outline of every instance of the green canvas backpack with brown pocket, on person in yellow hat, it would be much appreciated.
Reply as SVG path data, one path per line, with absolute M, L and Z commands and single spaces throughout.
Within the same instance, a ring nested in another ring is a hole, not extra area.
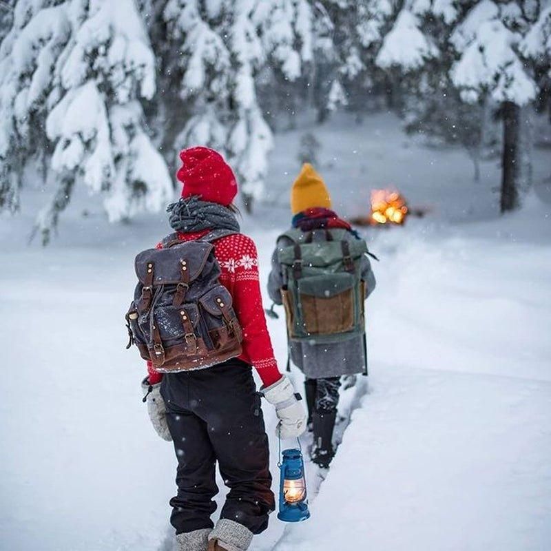
M 345 229 L 314 231 L 325 239 L 314 241 L 313 231 L 300 229 L 280 236 L 293 242 L 278 251 L 289 340 L 321 344 L 364 335 L 366 242 L 346 239 Z

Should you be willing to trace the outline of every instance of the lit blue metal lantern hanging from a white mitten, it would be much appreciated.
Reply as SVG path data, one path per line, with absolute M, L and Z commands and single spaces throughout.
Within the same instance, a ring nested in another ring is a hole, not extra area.
M 300 442 L 299 442 L 300 446 Z M 278 519 L 300 522 L 310 518 L 306 499 L 304 461 L 300 450 L 284 450 L 280 464 L 280 512 Z

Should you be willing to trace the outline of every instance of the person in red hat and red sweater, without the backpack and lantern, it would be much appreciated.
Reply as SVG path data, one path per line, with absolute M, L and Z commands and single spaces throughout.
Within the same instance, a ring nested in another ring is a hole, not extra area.
M 236 177 L 208 147 L 185 149 L 180 159 L 176 176 L 183 183 L 182 197 L 169 205 L 169 223 L 182 241 L 220 231 L 214 254 L 242 329 L 242 354 L 209 368 L 164 375 L 149 362 L 143 388 L 154 428 L 174 441 L 178 459 L 178 494 L 170 501 L 178 550 L 245 551 L 253 534 L 267 528 L 275 506 L 268 438 L 251 366 L 262 380 L 262 395 L 275 405 L 282 438 L 302 434 L 306 413 L 273 356 L 256 247 L 240 233 L 233 207 Z M 229 492 L 214 526 L 216 462 Z

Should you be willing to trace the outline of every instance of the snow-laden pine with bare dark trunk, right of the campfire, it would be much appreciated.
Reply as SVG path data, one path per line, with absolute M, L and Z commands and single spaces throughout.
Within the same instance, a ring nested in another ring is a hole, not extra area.
M 501 211 L 519 206 L 521 107 L 537 95 L 532 76 L 519 56 L 530 28 L 521 6 L 492 0 L 472 3 L 450 37 L 459 59 L 450 76 L 467 102 L 486 96 L 500 105 L 503 119 Z

